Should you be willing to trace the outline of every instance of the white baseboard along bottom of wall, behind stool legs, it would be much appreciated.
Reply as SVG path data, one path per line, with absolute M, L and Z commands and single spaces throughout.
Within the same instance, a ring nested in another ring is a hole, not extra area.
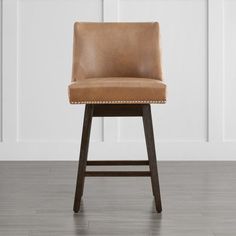
M 0 161 L 78 160 L 79 148 L 79 142 L 0 143 Z M 236 160 L 235 142 L 157 142 L 156 150 L 158 160 Z M 89 159 L 147 159 L 146 146 L 144 142 L 91 142 Z

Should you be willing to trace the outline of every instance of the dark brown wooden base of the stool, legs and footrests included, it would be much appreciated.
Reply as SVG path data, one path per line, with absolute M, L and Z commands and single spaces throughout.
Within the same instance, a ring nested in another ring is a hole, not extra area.
M 140 161 L 88 161 L 89 138 L 93 117 L 113 117 L 113 116 L 142 116 L 144 133 L 147 145 L 148 160 Z M 86 171 L 87 165 L 149 165 L 150 171 Z M 152 126 L 152 115 L 150 104 L 104 104 L 85 106 L 84 124 L 82 131 L 79 166 L 77 173 L 77 183 L 74 199 L 74 212 L 80 209 L 80 202 L 83 196 L 85 176 L 150 176 L 153 196 L 156 203 L 157 212 L 162 211 L 160 186 L 157 171 L 155 142 Z

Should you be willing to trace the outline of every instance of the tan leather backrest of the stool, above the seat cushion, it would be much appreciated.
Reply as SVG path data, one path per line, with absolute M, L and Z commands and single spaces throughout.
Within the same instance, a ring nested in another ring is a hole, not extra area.
M 162 80 L 159 24 L 76 22 L 72 81 L 94 77 Z

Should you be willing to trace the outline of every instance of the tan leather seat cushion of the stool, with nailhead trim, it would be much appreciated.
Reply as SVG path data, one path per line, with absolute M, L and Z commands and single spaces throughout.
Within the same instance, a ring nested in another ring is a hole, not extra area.
M 69 85 L 70 103 L 165 103 L 166 85 L 155 79 L 106 77 L 77 80 Z

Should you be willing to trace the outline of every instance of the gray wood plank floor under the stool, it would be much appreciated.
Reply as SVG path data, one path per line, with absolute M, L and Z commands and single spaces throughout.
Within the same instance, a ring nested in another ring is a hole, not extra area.
M 76 170 L 0 162 L 0 235 L 236 235 L 236 162 L 160 162 L 162 214 L 148 177 L 87 178 L 73 214 Z

